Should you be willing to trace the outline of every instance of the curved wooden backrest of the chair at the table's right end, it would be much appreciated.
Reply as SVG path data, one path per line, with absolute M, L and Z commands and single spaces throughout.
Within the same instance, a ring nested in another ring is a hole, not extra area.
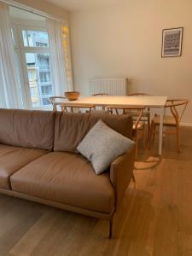
M 183 117 L 183 113 L 185 109 L 187 108 L 187 105 L 189 103 L 189 100 L 186 99 L 168 99 L 166 101 L 165 108 L 170 108 L 172 115 L 174 119 L 176 120 L 176 123 L 179 124 Z M 178 112 L 178 108 L 182 108 L 180 113 Z

